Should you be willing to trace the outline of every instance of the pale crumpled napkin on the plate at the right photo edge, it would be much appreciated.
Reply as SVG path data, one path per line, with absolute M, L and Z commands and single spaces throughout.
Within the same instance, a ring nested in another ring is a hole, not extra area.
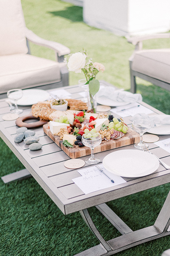
M 167 116 L 165 114 L 165 118 L 159 118 L 159 115 L 156 115 L 154 117 L 152 116 L 148 116 L 147 114 L 145 113 L 138 113 L 138 114 L 135 114 L 135 116 L 132 117 L 131 121 L 136 121 L 138 119 L 148 119 L 151 121 L 151 127 L 155 127 L 155 126 L 159 126 L 159 125 L 162 125 L 162 124 L 170 124 L 170 116 Z

